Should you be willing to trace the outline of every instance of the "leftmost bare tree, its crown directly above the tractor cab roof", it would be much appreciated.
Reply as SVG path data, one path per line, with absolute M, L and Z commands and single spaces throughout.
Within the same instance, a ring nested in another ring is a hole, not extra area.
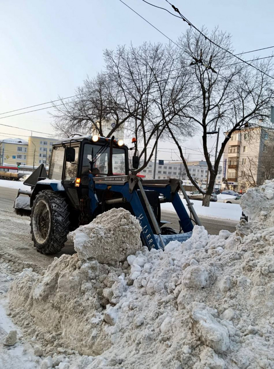
M 125 113 L 122 92 L 107 72 L 84 80 L 84 86 L 78 87 L 76 94 L 78 96 L 70 101 L 62 101 L 61 106 L 55 105 L 55 113 L 51 114 L 54 118 L 54 130 L 63 137 L 92 132 L 102 137 L 111 137 L 131 116 Z M 114 124 L 108 132 L 104 132 L 107 121 Z

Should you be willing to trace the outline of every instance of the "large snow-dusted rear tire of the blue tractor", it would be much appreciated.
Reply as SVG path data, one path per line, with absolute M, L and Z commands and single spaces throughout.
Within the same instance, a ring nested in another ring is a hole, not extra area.
M 38 252 L 55 254 L 64 247 L 69 232 L 68 204 L 51 190 L 37 194 L 31 211 L 31 236 Z

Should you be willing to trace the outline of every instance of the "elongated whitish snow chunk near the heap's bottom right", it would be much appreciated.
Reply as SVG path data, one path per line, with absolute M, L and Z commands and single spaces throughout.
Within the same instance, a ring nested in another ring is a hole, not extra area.
M 201 341 L 216 352 L 225 352 L 229 348 L 229 332 L 206 310 L 192 311 L 192 328 Z

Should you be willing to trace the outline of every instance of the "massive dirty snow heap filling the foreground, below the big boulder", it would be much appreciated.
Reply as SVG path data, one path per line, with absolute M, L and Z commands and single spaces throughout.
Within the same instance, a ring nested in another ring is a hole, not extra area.
M 182 244 L 116 266 L 82 258 L 78 244 L 41 274 L 25 269 L 11 317 L 43 352 L 41 368 L 274 368 L 274 180 L 242 207 L 249 221 L 233 234 L 195 226 Z

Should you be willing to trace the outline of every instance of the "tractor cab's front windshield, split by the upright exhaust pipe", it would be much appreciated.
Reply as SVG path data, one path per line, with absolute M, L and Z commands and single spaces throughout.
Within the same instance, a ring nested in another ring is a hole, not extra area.
M 82 175 L 88 174 L 89 170 L 93 174 L 108 174 L 109 144 L 93 145 L 85 144 L 82 164 Z M 114 175 L 125 175 L 125 150 L 113 148 L 112 170 Z

